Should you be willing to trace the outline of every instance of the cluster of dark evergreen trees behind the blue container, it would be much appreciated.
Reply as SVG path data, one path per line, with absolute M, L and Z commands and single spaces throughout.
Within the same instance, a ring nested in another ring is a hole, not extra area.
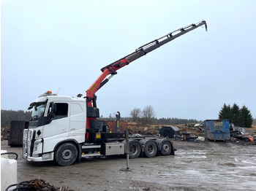
M 251 128 L 254 121 L 249 109 L 246 106 L 239 108 L 237 104 L 224 104 L 219 111 L 219 120 L 230 120 L 230 123 L 244 128 Z

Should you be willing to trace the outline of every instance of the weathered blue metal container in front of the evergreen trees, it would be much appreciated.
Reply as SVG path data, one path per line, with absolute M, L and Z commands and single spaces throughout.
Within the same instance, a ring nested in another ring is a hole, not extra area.
M 229 120 L 205 120 L 204 128 L 206 139 L 212 141 L 230 140 Z

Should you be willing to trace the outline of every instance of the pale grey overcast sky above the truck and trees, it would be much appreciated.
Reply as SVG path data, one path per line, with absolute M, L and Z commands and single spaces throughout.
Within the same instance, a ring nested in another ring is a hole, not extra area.
M 97 92 L 103 117 L 153 106 L 157 118 L 256 118 L 256 1 L 1 1 L 1 109 L 47 90 L 86 95 L 100 69 L 171 31 L 196 28 L 118 70 Z

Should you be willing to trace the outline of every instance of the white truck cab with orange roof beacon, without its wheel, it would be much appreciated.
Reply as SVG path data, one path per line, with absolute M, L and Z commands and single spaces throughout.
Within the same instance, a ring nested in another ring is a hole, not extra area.
M 54 160 L 60 144 L 85 141 L 86 100 L 46 92 L 33 101 L 29 128 L 23 131 L 23 157 L 29 161 Z M 78 148 L 75 148 L 78 149 Z M 66 152 L 66 157 L 70 154 Z

